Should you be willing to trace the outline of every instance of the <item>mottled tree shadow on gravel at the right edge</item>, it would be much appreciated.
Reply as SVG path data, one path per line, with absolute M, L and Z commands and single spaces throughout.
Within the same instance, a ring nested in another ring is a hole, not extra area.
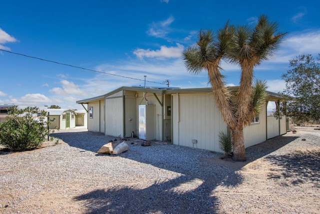
M 294 151 L 284 155 L 268 155 L 265 158 L 281 167 L 270 173 L 269 179 L 281 179 L 283 185 L 312 182 L 315 187 L 320 187 L 320 150 Z

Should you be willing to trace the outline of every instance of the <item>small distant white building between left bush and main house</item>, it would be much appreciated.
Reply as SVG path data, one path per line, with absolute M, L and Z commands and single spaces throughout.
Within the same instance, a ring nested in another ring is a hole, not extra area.
M 72 109 L 47 109 L 49 119 L 54 119 L 50 125 L 50 129 L 67 129 L 76 126 L 87 127 L 87 113 L 84 110 Z

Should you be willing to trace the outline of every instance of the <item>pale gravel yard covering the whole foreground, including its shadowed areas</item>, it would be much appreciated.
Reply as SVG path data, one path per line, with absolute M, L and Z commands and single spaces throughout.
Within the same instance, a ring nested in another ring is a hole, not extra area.
M 0 213 L 320 213 L 314 128 L 249 147 L 246 162 L 135 139 L 120 155 L 100 155 L 114 137 L 60 130 L 51 134 L 58 144 L 0 150 Z

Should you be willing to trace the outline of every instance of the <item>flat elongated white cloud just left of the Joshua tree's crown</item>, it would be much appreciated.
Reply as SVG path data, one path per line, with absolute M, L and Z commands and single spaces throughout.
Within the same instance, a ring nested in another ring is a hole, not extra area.
M 150 49 L 135 49 L 133 54 L 139 58 L 143 59 L 146 58 L 178 58 L 181 57 L 182 52 L 184 50 L 183 45 L 176 43 L 176 47 L 166 47 L 161 46 L 159 50 L 150 50 Z

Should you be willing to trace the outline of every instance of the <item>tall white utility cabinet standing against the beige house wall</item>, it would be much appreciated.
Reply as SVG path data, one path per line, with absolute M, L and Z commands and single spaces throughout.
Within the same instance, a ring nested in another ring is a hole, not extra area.
M 155 140 L 155 105 L 139 105 L 139 139 Z

